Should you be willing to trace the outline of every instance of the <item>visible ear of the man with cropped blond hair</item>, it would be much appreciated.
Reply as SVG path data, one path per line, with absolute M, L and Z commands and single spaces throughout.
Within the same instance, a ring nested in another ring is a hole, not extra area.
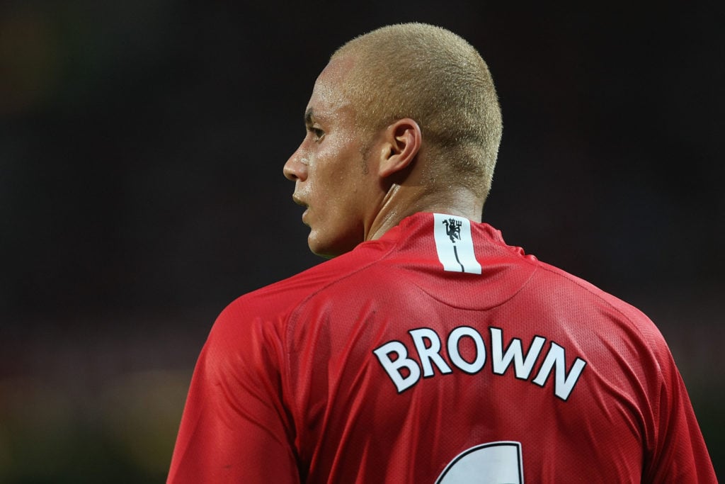
M 415 160 L 422 142 L 421 127 L 415 120 L 403 118 L 392 123 L 385 130 L 378 174 L 387 178 L 405 170 Z

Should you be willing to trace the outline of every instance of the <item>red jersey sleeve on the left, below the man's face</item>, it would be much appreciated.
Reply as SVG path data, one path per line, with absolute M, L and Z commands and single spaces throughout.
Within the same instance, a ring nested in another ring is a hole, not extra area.
M 281 341 L 239 304 L 220 314 L 194 369 L 168 483 L 299 483 Z

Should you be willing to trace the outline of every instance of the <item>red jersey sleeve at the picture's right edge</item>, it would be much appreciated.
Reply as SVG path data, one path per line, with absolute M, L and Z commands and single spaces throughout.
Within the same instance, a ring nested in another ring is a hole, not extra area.
M 662 372 L 655 414 L 655 443 L 645 462 L 645 482 L 717 483 L 682 375 L 664 340 L 658 345 Z

